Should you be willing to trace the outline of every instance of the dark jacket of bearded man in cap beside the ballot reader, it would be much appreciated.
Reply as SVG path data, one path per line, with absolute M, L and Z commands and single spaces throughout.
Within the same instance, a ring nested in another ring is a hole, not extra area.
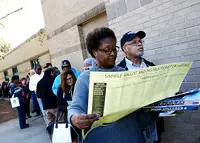
M 144 59 L 145 64 L 147 65 L 147 67 L 149 66 L 155 66 L 154 63 L 147 61 L 146 59 Z M 128 68 L 126 67 L 126 61 L 125 58 L 118 64 L 119 67 L 125 68 L 126 70 L 128 70 Z M 160 136 L 160 134 L 162 132 L 164 132 L 164 119 L 163 118 L 157 118 L 156 120 L 156 125 L 157 125 L 157 129 L 158 129 L 158 134 Z

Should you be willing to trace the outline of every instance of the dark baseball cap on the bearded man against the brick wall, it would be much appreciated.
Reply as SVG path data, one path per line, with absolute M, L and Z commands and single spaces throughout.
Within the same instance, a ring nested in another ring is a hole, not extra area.
M 138 37 L 140 37 L 141 39 L 143 39 L 143 38 L 146 36 L 146 33 L 145 33 L 144 31 L 139 31 L 139 32 L 137 32 L 137 33 L 134 33 L 134 32 L 129 31 L 129 32 L 125 33 L 125 34 L 123 35 L 123 37 L 121 38 L 121 40 L 120 40 L 121 48 L 124 46 L 124 44 L 125 44 L 126 42 L 133 40 L 133 38 L 134 38 L 135 36 L 138 36 Z M 122 48 L 122 50 L 123 50 L 123 48 Z

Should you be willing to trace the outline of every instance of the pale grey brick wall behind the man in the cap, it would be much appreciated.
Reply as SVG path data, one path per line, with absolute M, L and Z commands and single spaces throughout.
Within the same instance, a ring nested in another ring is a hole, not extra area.
M 105 0 L 109 27 L 119 40 L 144 30 L 145 58 L 155 64 L 193 61 L 182 90 L 200 87 L 200 0 Z M 124 57 L 122 52 L 118 61 Z M 165 118 L 167 143 L 197 143 L 200 112 Z

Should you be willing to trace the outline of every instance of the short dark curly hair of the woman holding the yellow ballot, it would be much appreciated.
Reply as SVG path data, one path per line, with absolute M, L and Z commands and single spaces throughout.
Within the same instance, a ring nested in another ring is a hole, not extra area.
M 98 50 L 101 40 L 107 37 L 111 37 L 117 41 L 115 33 L 107 27 L 96 28 L 87 35 L 86 46 L 89 54 L 92 57 L 94 57 L 93 50 Z

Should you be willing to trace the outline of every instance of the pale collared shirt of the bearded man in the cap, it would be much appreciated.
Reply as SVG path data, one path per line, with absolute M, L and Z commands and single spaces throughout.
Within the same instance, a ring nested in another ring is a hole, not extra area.
M 141 64 L 139 66 L 137 66 L 136 64 L 134 64 L 132 61 L 130 61 L 127 58 L 125 58 L 125 61 L 126 61 L 126 67 L 128 68 L 128 70 L 136 70 L 136 69 L 141 69 L 141 68 L 147 67 L 143 58 L 142 58 Z

